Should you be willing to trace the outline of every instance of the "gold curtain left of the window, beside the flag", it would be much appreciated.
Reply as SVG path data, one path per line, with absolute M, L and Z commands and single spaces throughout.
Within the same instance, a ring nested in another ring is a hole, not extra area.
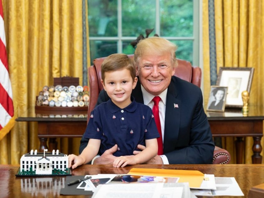
M 53 85 L 54 77 L 79 77 L 82 85 L 84 1 L 2 2 L 15 117 L 35 116 L 36 96 L 43 86 Z M 89 46 L 88 37 L 86 39 Z M 89 50 L 87 54 L 90 63 Z M 34 122 L 16 122 L 11 132 L 0 141 L 1 164 L 19 164 L 23 154 L 39 149 L 36 125 Z M 58 149 L 67 154 L 78 154 L 80 139 L 69 141 L 72 146 L 68 146 L 68 139 L 58 139 Z

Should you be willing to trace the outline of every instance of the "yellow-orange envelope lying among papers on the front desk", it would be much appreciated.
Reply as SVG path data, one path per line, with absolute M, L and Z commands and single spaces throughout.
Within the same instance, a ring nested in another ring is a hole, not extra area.
M 179 177 L 179 182 L 189 182 L 190 188 L 199 188 L 204 180 L 204 174 L 195 170 L 172 170 L 158 168 L 131 168 L 129 175 Z

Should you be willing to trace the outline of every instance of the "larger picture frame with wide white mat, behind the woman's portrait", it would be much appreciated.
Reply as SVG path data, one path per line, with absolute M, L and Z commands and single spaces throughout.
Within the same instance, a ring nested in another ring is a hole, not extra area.
M 228 87 L 225 107 L 242 108 L 241 93 L 250 93 L 254 68 L 220 67 L 217 86 Z

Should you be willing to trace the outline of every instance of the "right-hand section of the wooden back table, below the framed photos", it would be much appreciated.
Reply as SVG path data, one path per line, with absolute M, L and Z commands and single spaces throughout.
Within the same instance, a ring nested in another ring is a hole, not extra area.
M 252 163 L 261 164 L 261 138 L 263 136 L 264 109 L 262 106 L 249 106 L 249 113 L 243 116 L 241 110 L 227 109 L 225 112 L 207 112 L 214 137 L 236 137 L 237 164 L 243 162 L 243 137 L 253 137 Z

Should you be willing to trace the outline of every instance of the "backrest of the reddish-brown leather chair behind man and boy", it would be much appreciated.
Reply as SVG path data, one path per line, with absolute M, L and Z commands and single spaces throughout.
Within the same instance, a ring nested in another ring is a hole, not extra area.
M 128 55 L 130 58 L 133 58 L 133 54 Z M 88 120 L 91 114 L 91 111 L 94 109 L 99 92 L 103 89 L 101 84 L 101 64 L 106 57 L 97 58 L 93 60 L 93 65 L 88 68 L 89 76 L 89 88 L 90 88 L 90 102 L 88 107 Z M 201 68 L 192 66 L 189 61 L 177 59 L 178 66 L 174 73 L 174 76 L 177 76 L 183 80 L 191 82 L 196 86 L 201 86 Z M 87 120 L 87 121 L 88 121 Z

